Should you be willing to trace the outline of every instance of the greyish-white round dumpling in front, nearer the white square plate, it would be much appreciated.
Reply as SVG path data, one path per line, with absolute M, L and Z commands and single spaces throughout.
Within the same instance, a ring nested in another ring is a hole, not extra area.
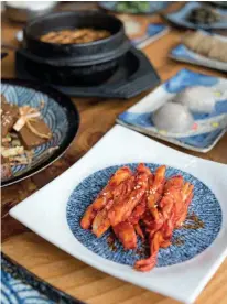
M 152 115 L 154 126 L 167 132 L 182 133 L 194 123 L 192 113 L 186 106 L 167 102 Z

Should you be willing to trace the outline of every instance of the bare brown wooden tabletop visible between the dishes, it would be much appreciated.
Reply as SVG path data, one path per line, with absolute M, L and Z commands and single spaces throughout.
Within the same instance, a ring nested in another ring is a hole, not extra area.
M 161 21 L 158 15 L 152 17 L 151 20 Z M 20 29 L 21 25 L 9 23 L 3 18 L 3 43 L 17 46 L 14 35 Z M 180 31 L 171 30 L 169 34 L 143 50 L 162 80 L 170 78 L 183 67 L 225 77 L 223 73 L 169 59 L 167 53 L 177 43 L 179 37 Z M 13 52 L 10 52 L 10 55 L 2 62 L 2 77 L 14 77 Z M 72 258 L 10 218 L 8 210 L 74 164 L 115 124 L 115 119 L 120 112 L 147 94 L 148 91 L 130 100 L 74 98 L 82 122 L 78 135 L 65 155 L 35 176 L 2 189 L 2 251 L 41 279 L 89 304 L 174 304 L 177 302 L 122 282 Z M 199 158 L 227 163 L 227 134 L 206 154 L 165 144 Z M 196 303 L 226 304 L 226 281 L 227 261 L 221 264 Z

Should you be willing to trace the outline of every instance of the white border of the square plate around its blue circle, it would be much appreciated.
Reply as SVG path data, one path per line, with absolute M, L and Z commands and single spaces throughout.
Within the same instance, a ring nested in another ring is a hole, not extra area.
M 195 258 L 151 272 L 104 259 L 84 247 L 66 221 L 66 204 L 75 186 L 89 174 L 115 164 L 163 163 L 193 174 L 216 195 L 223 210 L 223 226 L 215 241 Z M 45 187 L 10 210 L 10 215 L 73 257 L 114 276 L 193 303 L 227 256 L 227 166 L 194 158 L 144 135 L 115 126 L 84 158 Z

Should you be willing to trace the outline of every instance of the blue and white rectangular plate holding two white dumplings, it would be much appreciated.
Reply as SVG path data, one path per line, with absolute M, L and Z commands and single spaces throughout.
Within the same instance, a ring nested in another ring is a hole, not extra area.
M 152 113 L 187 87 L 205 86 L 216 100 L 212 113 L 193 112 L 195 123 L 184 133 L 159 130 Z M 150 137 L 163 139 L 190 150 L 207 152 L 224 135 L 227 128 L 227 80 L 188 69 L 180 70 L 174 77 L 145 96 L 140 102 L 121 113 L 117 122 Z

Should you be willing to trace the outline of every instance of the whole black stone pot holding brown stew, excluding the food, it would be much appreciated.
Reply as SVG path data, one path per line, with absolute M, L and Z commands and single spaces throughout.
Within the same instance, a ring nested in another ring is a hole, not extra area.
M 75 28 L 102 29 L 107 39 L 84 44 L 55 44 L 39 37 L 50 31 Z M 120 20 L 106 13 L 57 12 L 30 22 L 24 29 L 23 48 L 30 73 L 57 85 L 98 85 L 107 80 L 129 51 Z

